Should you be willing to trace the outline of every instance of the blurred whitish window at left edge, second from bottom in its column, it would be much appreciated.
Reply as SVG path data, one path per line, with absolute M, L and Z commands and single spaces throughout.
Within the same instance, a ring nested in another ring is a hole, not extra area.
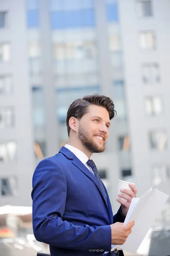
M 0 162 L 14 161 L 17 156 L 17 143 L 9 141 L 7 143 L 0 143 Z

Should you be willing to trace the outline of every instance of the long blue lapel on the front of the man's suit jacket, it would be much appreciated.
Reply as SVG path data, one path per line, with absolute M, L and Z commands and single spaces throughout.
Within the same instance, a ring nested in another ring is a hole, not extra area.
M 95 177 L 95 175 L 93 175 L 93 174 L 89 171 L 89 169 L 88 169 L 75 155 L 74 155 L 74 157 L 73 157 L 72 163 L 73 163 L 76 167 L 78 167 L 78 169 L 80 169 L 81 172 L 84 172 L 84 174 L 85 174 L 86 176 L 88 176 L 88 177 L 95 183 L 95 185 L 96 185 L 96 186 L 98 187 L 98 189 L 100 190 L 102 197 L 104 198 L 103 192 L 102 192 L 102 190 L 101 190 L 101 186 L 100 186 L 100 184 L 99 184 L 98 179 Z M 104 199 L 104 202 L 105 202 L 105 204 L 106 204 L 106 206 L 107 206 L 107 203 L 106 203 L 105 199 Z M 107 207 L 107 209 L 108 209 L 108 207 Z M 109 209 L 108 209 L 108 210 L 109 210 Z

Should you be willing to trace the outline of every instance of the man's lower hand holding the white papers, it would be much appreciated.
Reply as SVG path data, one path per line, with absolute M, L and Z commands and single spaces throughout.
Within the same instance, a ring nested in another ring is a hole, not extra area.
M 124 244 L 129 234 L 132 232 L 131 228 L 135 225 L 135 221 L 131 221 L 126 225 L 121 222 L 116 222 L 110 225 L 112 233 L 112 244 Z

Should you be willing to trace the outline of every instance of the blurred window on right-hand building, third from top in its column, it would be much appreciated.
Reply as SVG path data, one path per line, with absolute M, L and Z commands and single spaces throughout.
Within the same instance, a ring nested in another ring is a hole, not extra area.
M 158 83 L 160 79 L 159 65 L 157 63 L 145 63 L 142 65 L 142 80 L 145 84 Z

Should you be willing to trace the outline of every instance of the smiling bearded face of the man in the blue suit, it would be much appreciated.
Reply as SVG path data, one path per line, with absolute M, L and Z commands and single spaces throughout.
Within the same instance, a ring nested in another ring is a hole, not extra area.
M 89 105 L 88 112 L 79 121 L 78 139 L 89 152 L 101 153 L 105 150 L 109 126 L 107 109 Z

